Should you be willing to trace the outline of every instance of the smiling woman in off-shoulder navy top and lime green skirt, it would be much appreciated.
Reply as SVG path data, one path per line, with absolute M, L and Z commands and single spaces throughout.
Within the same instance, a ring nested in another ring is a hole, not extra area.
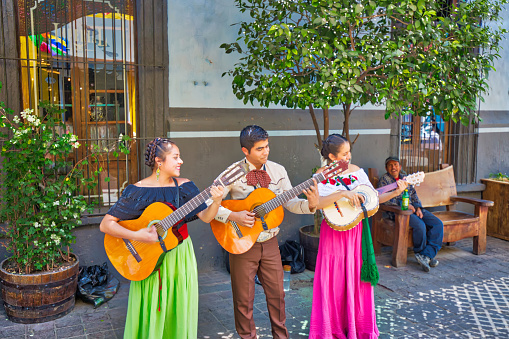
M 152 174 L 125 188 L 120 199 L 101 222 L 101 231 L 117 238 L 139 242 L 156 242 L 154 226 L 138 231 L 128 230 L 121 220 L 137 219 L 154 202 L 171 203 L 175 207 L 199 194 L 188 179 L 177 178 L 183 161 L 177 145 L 157 138 L 147 145 L 145 164 Z M 212 186 L 212 204 L 203 203 L 186 216 L 184 222 L 200 218 L 210 222 L 221 204 L 223 188 Z M 193 244 L 187 226 L 179 228 L 183 242 L 166 253 L 161 266 L 148 278 L 132 281 L 124 338 L 197 338 L 198 272 Z

